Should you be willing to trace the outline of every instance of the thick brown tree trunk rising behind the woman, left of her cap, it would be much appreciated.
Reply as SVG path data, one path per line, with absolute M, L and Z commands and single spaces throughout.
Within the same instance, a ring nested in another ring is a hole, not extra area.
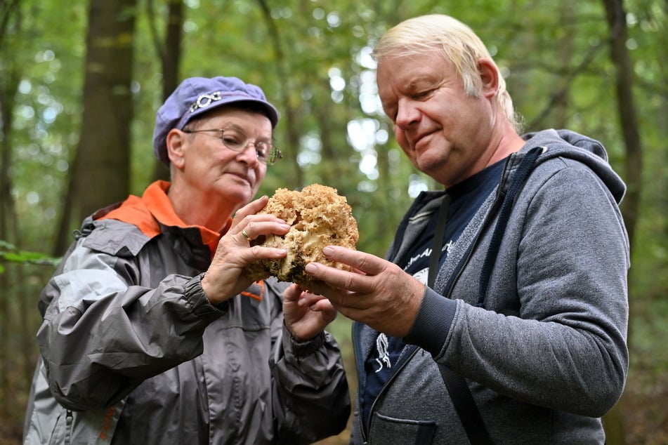
M 129 194 L 135 15 L 136 0 L 91 0 L 81 139 L 59 239 L 70 237 L 70 222 Z

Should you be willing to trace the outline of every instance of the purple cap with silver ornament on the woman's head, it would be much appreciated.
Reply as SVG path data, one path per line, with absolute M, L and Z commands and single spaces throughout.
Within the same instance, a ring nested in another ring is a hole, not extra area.
M 267 101 L 260 87 L 244 84 L 236 77 L 190 77 L 181 82 L 158 109 L 153 129 L 153 153 L 169 165 L 166 138 L 172 128 L 182 130 L 193 117 L 234 102 L 255 102 L 265 109 L 272 128 L 278 124 L 278 111 Z

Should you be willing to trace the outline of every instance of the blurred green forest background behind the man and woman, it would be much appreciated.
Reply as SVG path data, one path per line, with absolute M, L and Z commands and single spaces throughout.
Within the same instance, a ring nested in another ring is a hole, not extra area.
M 412 198 L 435 185 L 402 157 L 369 53 L 425 13 L 483 38 L 526 131 L 591 135 L 627 181 L 631 370 L 608 443 L 668 442 L 667 1 L 0 0 L 1 443 L 20 442 L 53 258 L 83 215 L 166 177 L 155 111 L 184 77 L 260 85 L 282 114 L 286 155 L 261 193 L 336 187 L 359 248 L 384 255 Z M 332 330 L 350 365 L 348 321 Z

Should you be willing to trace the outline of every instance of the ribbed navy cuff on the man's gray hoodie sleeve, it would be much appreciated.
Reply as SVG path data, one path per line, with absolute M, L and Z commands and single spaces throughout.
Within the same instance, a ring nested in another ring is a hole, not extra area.
M 456 311 L 455 300 L 426 288 L 417 317 L 404 338 L 405 343 L 418 345 L 434 357 L 438 356 L 443 350 Z

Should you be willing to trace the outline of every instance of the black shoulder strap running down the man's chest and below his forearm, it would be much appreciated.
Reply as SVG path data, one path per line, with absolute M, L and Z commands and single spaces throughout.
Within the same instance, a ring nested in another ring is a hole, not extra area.
M 429 274 L 427 284 L 433 288 L 436 274 L 438 274 L 438 263 L 440 260 L 440 253 L 443 246 L 443 237 L 445 234 L 445 224 L 447 223 L 447 212 L 450 208 L 450 197 L 446 194 L 443 197 L 443 204 L 438 211 L 438 223 L 436 225 L 436 232 L 431 248 L 431 255 L 429 256 Z M 466 431 L 466 436 L 474 445 L 492 444 L 490 435 L 487 433 L 487 427 L 480 417 L 480 412 L 476 406 L 476 401 L 473 400 L 469 385 L 463 377 L 452 371 L 447 366 L 438 364 L 440 374 L 443 376 L 443 383 L 447 388 L 454 410 L 457 411 L 457 416 L 461 421 L 461 425 Z

